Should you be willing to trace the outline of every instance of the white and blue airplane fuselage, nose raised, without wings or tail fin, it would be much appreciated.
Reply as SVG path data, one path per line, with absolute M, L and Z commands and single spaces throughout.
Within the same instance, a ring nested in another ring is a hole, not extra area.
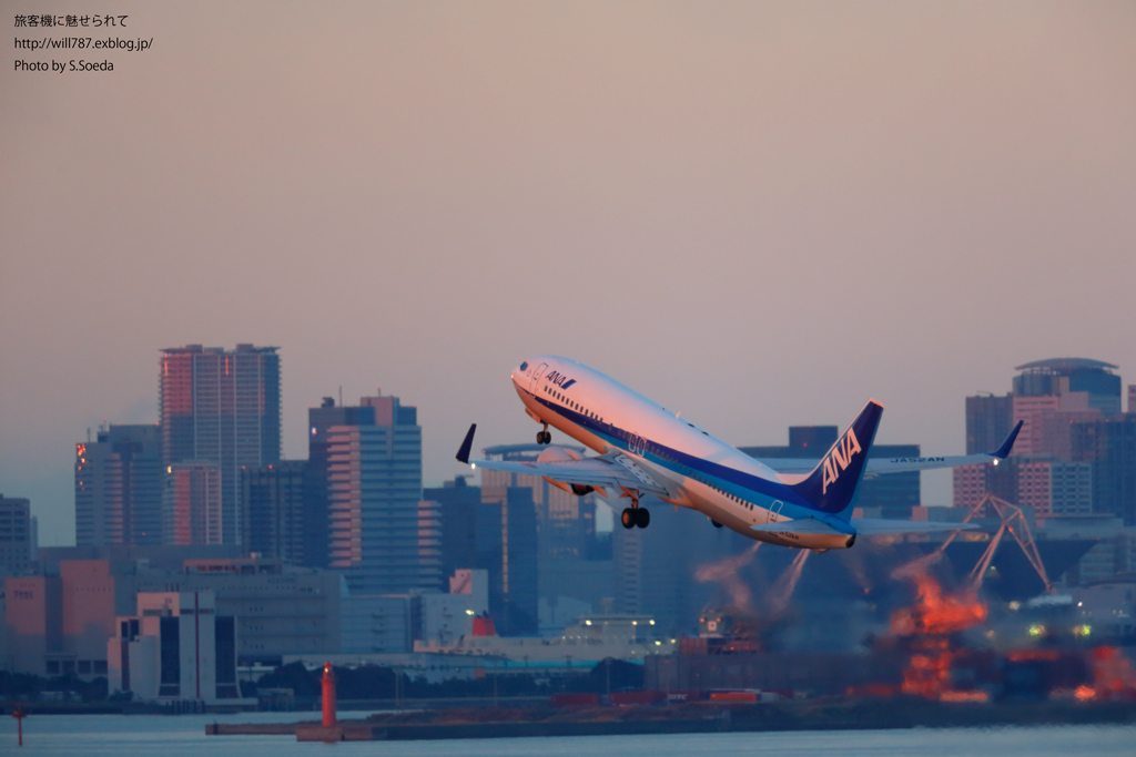
M 660 498 L 696 510 L 751 539 L 787 547 L 851 546 L 843 533 L 754 531 L 811 513 L 779 476 L 709 431 L 583 363 L 541 355 L 513 369 L 528 414 L 604 455 L 621 452 L 667 489 Z M 634 495 L 634 493 L 627 493 Z

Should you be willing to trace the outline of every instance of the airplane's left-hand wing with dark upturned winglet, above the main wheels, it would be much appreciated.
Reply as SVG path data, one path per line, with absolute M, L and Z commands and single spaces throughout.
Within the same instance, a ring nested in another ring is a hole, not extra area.
M 498 460 L 469 460 L 469 451 L 474 441 L 477 424 L 469 427 L 466 439 L 458 451 L 458 461 L 473 468 L 491 471 L 507 471 L 525 476 L 543 476 L 562 483 L 576 483 L 593 488 L 637 489 L 643 494 L 668 496 L 666 487 L 661 486 L 635 461 L 623 453 L 611 453 L 599 457 L 582 457 L 579 460 L 558 460 L 554 462 L 512 462 Z

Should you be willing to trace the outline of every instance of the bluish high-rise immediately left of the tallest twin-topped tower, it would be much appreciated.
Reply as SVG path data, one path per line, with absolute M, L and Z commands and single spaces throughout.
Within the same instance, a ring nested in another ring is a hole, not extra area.
M 75 544 L 161 544 L 164 472 L 157 424 L 110 424 L 75 445 Z

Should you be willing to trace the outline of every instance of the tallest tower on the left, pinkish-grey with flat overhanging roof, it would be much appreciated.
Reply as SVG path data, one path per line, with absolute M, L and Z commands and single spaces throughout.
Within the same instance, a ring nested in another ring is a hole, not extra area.
M 222 539 L 241 544 L 241 469 L 281 456 L 277 347 L 187 345 L 162 351 L 159 403 L 166 465 L 211 463 L 220 472 Z

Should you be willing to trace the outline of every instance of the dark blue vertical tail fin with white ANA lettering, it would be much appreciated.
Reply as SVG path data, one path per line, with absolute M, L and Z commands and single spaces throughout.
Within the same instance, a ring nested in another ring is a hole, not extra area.
M 884 406 L 869 399 L 852 424 L 828 451 L 820 464 L 793 488 L 802 495 L 808 506 L 833 515 L 844 514 L 852 504 L 855 488 L 863 478 L 868 449 L 876 439 L 876 429 L 884 414 Z

